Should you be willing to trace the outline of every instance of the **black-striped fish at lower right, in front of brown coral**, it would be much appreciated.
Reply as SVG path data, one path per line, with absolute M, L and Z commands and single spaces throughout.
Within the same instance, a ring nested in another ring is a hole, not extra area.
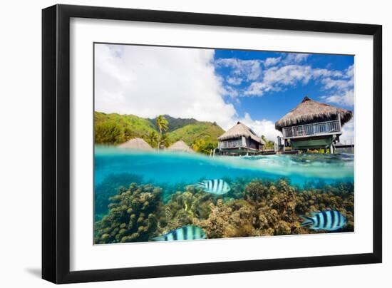
M 313 230 L 335 231 L 343 228 L 347 223 L 346 217 L 334 210 L 312 212 L 311 217 L 300 217 L 304 220 L 301 226 L 309 226 Z

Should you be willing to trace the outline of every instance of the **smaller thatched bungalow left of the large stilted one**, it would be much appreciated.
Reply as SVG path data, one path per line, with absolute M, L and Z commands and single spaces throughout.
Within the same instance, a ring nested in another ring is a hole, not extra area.
M 218 137 L 218 150 L 220 154 L 249 155 L 262 153 L 264 140 L 254 131 L 237 122 L 237 125 Z

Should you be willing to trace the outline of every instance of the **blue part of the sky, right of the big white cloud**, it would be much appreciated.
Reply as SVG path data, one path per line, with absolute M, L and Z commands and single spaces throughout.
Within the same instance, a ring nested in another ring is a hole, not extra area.
M 224 79 L 227 89 L 226 101 L 234 105 L 239 115 L 244 116 L 245 113 L 249 113 L 254 119 L 266 118 L 277 121 L 297 106 L 304 96 L 354 110 L 352 105 L 354 98 L 352 101 L 342 100 L 345 93 L 354 88 L 354 81 L 352 85 L 349 83 L 353 78 L 346 76 L 348 69 L 353 66 L 354 56 L 215 50 L 216 73 Z M 296 79 L 287 85 L 275 81 L 272 84 L 273 88 L 258 89 L 249 93 L 254 83 L 265 82 L 264 77 L 268 71 L 276 72 L 288 67 L 291 68 L 292 73 L 298 73 Z M 330 77 L 331 81 L 345 81 L 347 86 L 329 88 L 326 86 L 327 76 L 312 77 L 311 74 L 314 72 L 306 72 L 304 67 L 310 67 L 312 70 L 321 69 L 324 72 L 336 72 L 336 76 Z M 331 96 L 335 97 L 331 98 Z

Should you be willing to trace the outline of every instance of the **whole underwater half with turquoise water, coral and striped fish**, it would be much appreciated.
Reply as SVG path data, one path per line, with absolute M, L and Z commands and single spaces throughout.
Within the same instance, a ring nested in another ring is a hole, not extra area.
M 96 146 L 96 244 L 354 231 L 354 155 Z

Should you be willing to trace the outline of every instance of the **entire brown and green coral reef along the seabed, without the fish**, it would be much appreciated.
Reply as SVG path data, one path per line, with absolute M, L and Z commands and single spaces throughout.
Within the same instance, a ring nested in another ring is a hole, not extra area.
M 230 182 L 223 196 L 195 186 L 170 188 L 165 196 L 159 187 L 136 185 L 121 188 L 110 198 L 110 211 L 96 222 L 96 243 L 148 241 L 184 225 L 201 227 L 207 238 L 320 233 L 301 227 L 300 215 L 338 210 L 347 218 L 343 231 L 354 231 L 354 183 L 306 183 L 289 180 Z

